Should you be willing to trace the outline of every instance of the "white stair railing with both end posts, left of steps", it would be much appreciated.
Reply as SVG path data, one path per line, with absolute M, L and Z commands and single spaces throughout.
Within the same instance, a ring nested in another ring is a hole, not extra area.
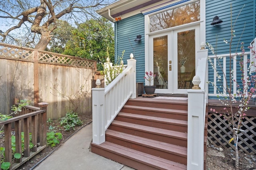
M 127 67 L 106 88 L 92 88 L 92 142 L 105 142 L 105 131 L 129 98 L 136 98 L 136 60 L 133 55 Z

